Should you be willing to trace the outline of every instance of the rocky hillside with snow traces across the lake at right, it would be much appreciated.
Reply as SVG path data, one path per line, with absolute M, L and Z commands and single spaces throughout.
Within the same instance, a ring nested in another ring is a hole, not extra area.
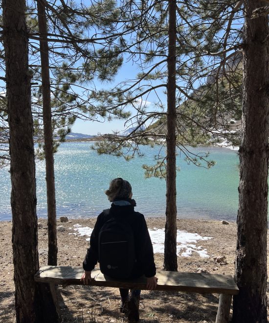
M 235 55 L 219 74 L 217 69 L 178 107 L 177 133 L 184 144 L 238 146 L 242 129 L 242 55 Z M 147 128 L 166 134 L 166 118 L 162 117 Z M 184 139 L 182 139 L 184 138 Z M 189 142 L 188 142 L 189 141 Z

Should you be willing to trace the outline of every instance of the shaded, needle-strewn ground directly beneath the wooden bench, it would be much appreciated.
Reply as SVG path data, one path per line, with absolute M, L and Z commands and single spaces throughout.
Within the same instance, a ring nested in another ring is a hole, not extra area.
M 126 323 L 119 312 L 116 288 L 59 287 L 59 303 L 65 323 Z M 219 297 L 206 294 L 142 291 L 140 323 L 215 322 Z

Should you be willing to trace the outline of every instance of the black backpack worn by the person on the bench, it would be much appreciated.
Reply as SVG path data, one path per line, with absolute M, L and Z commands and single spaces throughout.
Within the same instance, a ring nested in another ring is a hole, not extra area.
M 109 210 L 104 210 L 108 213 Z M 134 232 L 123 217 L 112 217 L 99 232 L 101 273 L 112 278 L 129 278 L 135 263 Z

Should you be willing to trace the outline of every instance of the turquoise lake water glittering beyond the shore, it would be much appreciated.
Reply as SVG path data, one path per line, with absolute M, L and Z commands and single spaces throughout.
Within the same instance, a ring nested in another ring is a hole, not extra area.
M 142 146 L 144 157 L 131 161 L 98 155 L 91 142 L 65 142 L 55 154 L 57 216 L 97 216 L 110 202 L 104 191 L 116 177 L 127 179 L 133 187 L 136 210 L 146 217 L 165 216 L 165 180 L 145 179 L 142 164 L 154 164 L 160 147 Z M 238 208 L 239 158 L 225 148 L 190 148 L 195 153 L 210 151 L 216 165 L 210 169 L 187 164 L 177 156 L 177 209 L 180 218 L 236 220 Z M 37 214 L 46 217 L 45 162 L 38 161 Z M 0 169 L 0 220 L 11 219 L 10 174 Z

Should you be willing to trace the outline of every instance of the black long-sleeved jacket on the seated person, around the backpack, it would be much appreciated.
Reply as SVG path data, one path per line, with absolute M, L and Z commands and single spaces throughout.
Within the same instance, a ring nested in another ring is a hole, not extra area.
M 131 201 L 131 200 L 129 200 Z M 156 275 L 153 247 L 150 239 L 144 215 L 134 211 L 134 205 L 118 206 L 112 203 L 110 212 L 102 212 L 98 215 L 94 229 L 90 235 L 90 248 L 87 250 L 83 269 L 91 271 L 98 261 L 98 236 L 106 221 L 112 216 L 124 217 L 134 230 L 134 244 L 136 251 L 136 263 L 130 278 L 145 275 L 153 277 Z

